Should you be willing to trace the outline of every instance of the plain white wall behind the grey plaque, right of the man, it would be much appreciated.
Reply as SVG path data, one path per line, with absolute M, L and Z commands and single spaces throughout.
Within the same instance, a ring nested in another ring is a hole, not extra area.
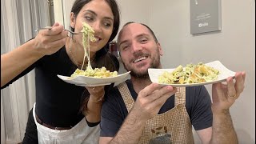
M 219 33 L 190 34 L 189 0 L 150 1 L 149 20 L 162 43 L 164 67 L 219 60 L 246 71 L 246 88 L 230 111 L 239 142 L 255 143 L 255 1 L 222 0 Z

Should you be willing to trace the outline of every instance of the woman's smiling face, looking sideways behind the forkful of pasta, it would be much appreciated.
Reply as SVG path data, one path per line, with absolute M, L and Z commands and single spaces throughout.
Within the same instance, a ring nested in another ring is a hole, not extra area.
M 109 41 L 113 32 L 114 15 L 108 3 L 104 0 L 93 0 L 82 7 L 76 17 L 70 14 L 70 26 L 74 32 L 82 30 L 82 22 L 89 24 L 94 30 L 96 42 L 90 42 L 90 52 L 97 52 Z M 82 34 L 74 35 L 82 45 Z

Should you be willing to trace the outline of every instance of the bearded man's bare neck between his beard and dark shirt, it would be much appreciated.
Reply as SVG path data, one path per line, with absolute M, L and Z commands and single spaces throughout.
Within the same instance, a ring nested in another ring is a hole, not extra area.
M 152 83 L 150 81 L 150 78 L 134 78 L 134 77 L 131 77 L 130 80 L 131 80 L 131 82 L 134 86 L 134 90 L 136 91 L 137 94 L 142 89 L 144 89 L 146 86 L 149 86 Z

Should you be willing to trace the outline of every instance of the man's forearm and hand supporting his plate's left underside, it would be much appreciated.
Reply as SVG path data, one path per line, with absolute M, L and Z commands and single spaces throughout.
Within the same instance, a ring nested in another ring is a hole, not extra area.
M 146 121 L 158 114 L 166 99 L 175 94 L 172 86 L 151 84 L 138 93 L 138 98 L 114 138 L 101 137 L 100 144 L 138 143 Z

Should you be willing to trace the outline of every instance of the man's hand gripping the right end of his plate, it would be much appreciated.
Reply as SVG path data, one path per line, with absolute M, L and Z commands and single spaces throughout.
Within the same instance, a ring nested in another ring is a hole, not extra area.
M 245 72 L 237 72 L 233 78 L 226 78 L 226 84 L 215 83 L 212 86 L 212 110 L 214 113 L 226 112 L 233 105 L 235 100 L 239 98 L 240 94 L 244 90 L 244 84 L 246 79 Z

